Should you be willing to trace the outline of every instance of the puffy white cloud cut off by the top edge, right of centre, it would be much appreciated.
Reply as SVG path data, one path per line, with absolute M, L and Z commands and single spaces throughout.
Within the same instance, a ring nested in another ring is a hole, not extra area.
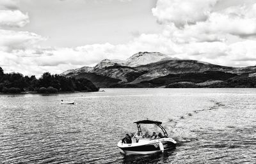
M 177 27 L 207 20 L 218 0 L 158 0 L 153 15 L 161 24 L 173 22 Z

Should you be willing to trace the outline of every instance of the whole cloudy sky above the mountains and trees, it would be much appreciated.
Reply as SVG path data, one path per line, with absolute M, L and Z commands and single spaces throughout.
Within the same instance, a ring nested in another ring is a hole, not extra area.
M 256 65 L 256 0 L 1 0 L 0 66 L 40 76 L 154 51 Z

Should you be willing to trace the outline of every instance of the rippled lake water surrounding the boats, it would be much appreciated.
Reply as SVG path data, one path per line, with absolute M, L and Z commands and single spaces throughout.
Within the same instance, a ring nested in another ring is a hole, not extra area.
M 1 94 L 0 163 L 256 161 L 256 89 L 104 90 Z M 163 122 L 177 149 L 121 154 L 117 142 L 137 130 L 134 121 L 147 118 Z

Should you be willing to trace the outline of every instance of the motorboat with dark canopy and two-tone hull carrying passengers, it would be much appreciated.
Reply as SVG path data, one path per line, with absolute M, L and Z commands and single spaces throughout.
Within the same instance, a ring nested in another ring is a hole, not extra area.
M 161 122 L 142 120 L 134 123 L 137 124 L 138 131 L 131 137 L 131 144 L 125 144 L 122 140 L 117 144 L 124 154 L 151 154 L 175 149 L 177 142 L 168 137 Z M 141 124 L 156 124 L 163 131 L 163 135 L 160 132 L 152 137 L 148 132 L 141 131 Z

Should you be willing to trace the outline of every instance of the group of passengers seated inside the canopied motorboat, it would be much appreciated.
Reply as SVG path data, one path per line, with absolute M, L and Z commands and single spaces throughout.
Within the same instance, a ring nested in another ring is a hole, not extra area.
M 149 135 L 149 133 L 145 133 L 143 135 L 143 133 L 138 132 L 136 133 L 134 138 L 136 138 L 136 142 L 138 142 L 138 138 L 150 138 L 150 140 L 154 140 L 154 139 L 164 138 L 164 136 L 162 135 L 161 132 L 159 132 L 158 135 L 156 135 L 156 132 L 153 132 L 152 135 Z M 131 143 L 132 143 L 131 137 L 129 136 L 129 134 L 126 134 L 125 137 L 122 139 L 122 144 L 131 144 Z

